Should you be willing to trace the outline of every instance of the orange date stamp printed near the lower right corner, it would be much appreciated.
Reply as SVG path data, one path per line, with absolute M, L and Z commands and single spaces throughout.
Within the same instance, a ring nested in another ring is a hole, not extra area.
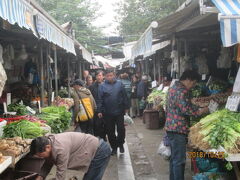
M 189 151 L 187 152 L 187 157 L 190 159 L 193 158 L 218 158 L 224 159 L 225 158 L 224 152 L 197 152 L 197 151 Z

